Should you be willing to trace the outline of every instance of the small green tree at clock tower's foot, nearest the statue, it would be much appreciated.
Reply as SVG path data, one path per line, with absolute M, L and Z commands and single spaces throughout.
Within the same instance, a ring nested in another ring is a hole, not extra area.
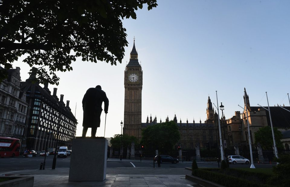
M 121 134 L 115 134 L 114 137 L 111 137 L 111 146 L 113 149 L 121 148 Z M 135 136 L 129 136 L 127 134 L 122 135 L 122 146 L 124 148 L 131 146 L 131 143 L 134 142 L 135 147 L 139 147 L 139 140 Z

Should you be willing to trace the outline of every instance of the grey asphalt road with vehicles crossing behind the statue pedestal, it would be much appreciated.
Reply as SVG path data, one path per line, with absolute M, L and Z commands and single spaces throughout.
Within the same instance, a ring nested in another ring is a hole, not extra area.
M 39 169 L 40 163 L 44 162 L 44 156 L 36 156 L 33 158 L 23 158 L 21 156 L 14 158 L 0 158 L 0 174 L 8 171 L 21 171 L 27 169 Z M 52 167 L 53 155 L 46 157 L 45 168 L 50 169 Z M 70 157 L 67 158 L 57 158 L 56 168 L 69 168 Z M 191 167 L 191 162 L 179 162 L 177 164 L 171 163 L 162 163 L 162 168 L 185 168 Z M 274 164 L 255 164 L 256 168 L 271 168 Z M 153 161 L 150 160 L 127 160 L 123 159 L 122 161 L 118 159 L 108 159 L 107 168 L 119 168 L 119 167 L 153 167 Z M 157 167 L 157 163 L 155 163 Z M 217 162 L 198 162 L 199 168 L 217 168 Z M 236 164 L 230 165 L 230 168 L 249 168 L 249 165 L 246 164 Z

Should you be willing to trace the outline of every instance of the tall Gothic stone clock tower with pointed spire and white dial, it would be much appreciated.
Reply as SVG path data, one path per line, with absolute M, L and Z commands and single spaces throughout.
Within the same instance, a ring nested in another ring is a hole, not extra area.
M 141 139 L 141 111 L 143 71 L 138 62 L 135 38 L 130 61 L 124 72 L 125 103 L 124 103 L 124 134 Z

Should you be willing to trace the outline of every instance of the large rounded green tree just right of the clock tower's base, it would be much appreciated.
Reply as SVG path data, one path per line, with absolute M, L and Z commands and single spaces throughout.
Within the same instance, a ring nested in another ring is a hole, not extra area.
M 141 143 L 146 149 L 158 149 L 159 153 L 170 153 L 180 139 L 178 126 L 174 121 L 158 123 L 142 131 Z

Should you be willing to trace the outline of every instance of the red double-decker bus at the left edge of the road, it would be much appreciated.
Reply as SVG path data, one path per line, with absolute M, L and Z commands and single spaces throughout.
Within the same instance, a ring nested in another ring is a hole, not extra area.
M 0 136 L 0 157 L 19 156 L 20 139 Z

